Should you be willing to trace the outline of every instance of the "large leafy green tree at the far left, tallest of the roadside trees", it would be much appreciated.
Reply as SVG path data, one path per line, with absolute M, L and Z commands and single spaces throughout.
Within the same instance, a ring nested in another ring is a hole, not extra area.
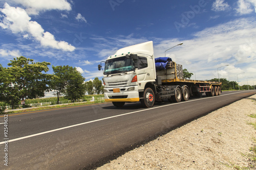
M 23 56 L 14 58 L 8 63 L 10 67 L 3 68 L 1 76 L 1 98 L 4 96 L 4 101 L 10 103 L 12 108 L 17 105 L 20 99 L 33 99 L 36 96 L 45 96 L 45 91 L 49 90 L 48 74 L 43 74 L 42 71 L 49 70 L 49 62 L 33 62 Z M 3 76 L 5 78 L 3 78 Z

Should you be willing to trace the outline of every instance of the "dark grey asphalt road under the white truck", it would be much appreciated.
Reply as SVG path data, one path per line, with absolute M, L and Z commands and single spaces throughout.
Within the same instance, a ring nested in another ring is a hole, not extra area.
M 220 96 L 142 108 L 112 103 L 4 115 L 0 122 L 0 169 L 90 169 L 155 139 L 256 90 L 226 91 Z M 8 138 L 6 145 L 5 139 Z M 8 151 L 5 151 L 8 149 Z M 8 154 L 8 166 L 4 160 Z

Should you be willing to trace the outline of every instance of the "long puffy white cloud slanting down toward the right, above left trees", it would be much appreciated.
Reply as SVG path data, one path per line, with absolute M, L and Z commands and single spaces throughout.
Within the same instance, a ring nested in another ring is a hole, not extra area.
M 5 14 L 5 17 L 0 26 L 3 29 L 10 29 L 12 33 L 25 34 L 25 38 L 28 37 L 27 33 L 31 34 L 33 38 L 41 43 L 42 46 L 49 46 L 52 48 L 60 49 L 63 51 L 74 51 L 75 47 L 65 41 L 56 41 L 54 35 L 45 30 L 36 21 L 31 21 L 31 17 L 22 8 L 15 8 L 5 3 L 5 8 L 0 9 Z

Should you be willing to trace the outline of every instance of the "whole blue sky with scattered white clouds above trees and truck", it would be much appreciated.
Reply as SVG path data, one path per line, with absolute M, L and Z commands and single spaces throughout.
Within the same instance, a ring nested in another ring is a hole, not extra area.
M 166 55 L 198 80 L 218 78 L 228 64 L 221 78 L 252 85 L 255 13 L 256 0 L 0 0 L 0 63 L 24 56 L 70 65 L 88 81 L 102 78 L 97 65 L 119 48 L 152 40 L 164 57 L 183 42 Z

